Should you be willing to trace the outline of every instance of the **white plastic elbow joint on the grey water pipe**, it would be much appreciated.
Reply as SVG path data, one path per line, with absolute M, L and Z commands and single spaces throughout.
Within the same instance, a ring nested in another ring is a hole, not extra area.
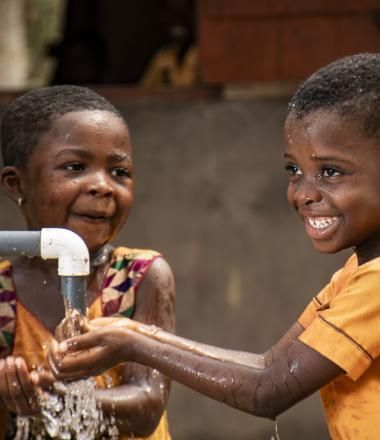
M 41 229 L 41 258 L 58 259 L 58 275 L 86 276 L 90 273 L 90 256 L 85 242 L 68 229 Z

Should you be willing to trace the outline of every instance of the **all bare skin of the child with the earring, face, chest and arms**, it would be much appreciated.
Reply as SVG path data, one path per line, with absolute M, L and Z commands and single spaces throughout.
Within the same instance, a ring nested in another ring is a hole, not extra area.
M 124 225 L 133 202 L 132 149 L 128 129 L 116 115 L 79 111 L 59 117 L 41 139 L 26 167 L 5 167 L 2 185 L 13 199 L 23 198 L 28 229 L 62 227 L 79 234 L 94 255 Z M 108 261 L 88 280 L 87 299 L 102 288 Z M 65 316 L 56 262 L 17 257 L 12 261 L 18 298 L 51 333 Z M 135 319 L 174 330 L 174 281 L 170 267 L 157 258 L 136 298 Z M 121 432 L 150 434 L 168 398 L 170 381 L 142 365 L 127 364 L 122 385 L 97 390 L 106 412 L 118 418 Z M 19 414 L 38 413 L 34 386 L 25 363 L 0 360 L 0 395 Z M 40 376 L 42 383 L 46 380 Z M 17 383 L 12 387 L 12 383 Z M 141 411 L 144 408 L 144 411 Z

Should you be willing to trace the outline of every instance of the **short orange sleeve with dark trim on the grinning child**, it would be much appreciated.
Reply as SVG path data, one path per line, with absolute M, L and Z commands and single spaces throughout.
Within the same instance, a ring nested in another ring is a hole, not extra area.
M 306 309 L 300 323 L 306 324 L 302 342 L 358 379 L 380 355 L 380 259 L 359 266 L 330 302 L 315 309 L 314 319 Z

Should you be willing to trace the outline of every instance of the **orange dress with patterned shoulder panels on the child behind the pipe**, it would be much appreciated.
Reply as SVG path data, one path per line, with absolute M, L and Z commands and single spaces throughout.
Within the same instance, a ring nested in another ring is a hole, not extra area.
M 102 290 L 88 310 L 88 318 L 102 316 L 133 317 L 135 297 L 144 275 L 160 254 L 151 250 L 119 247 L 113 250 L 110 267 Z M 17 301 L 12 279 L 12 266 L 8 260 L 0 261 L 0 357 L 22 356 L 29 369 L 43 365 L 46 347 L 53 335 L 27 308 Z M 119 384 L 119 368 L 109 370 L 97 377 L 97 386 L 109 387 Z M 6 438 L 7 426 L 11 424 L 8 411 L 0 408 L 0 440 Z M 120 436 L 126 440 L 127 436 Z M 170 440 L 166 412 L 155 432 L 147 440 Z M 134 439 L 138 440 L 138 439 Z

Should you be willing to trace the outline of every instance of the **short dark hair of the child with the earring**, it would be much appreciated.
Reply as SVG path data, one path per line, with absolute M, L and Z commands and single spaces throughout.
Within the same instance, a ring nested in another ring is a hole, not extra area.
M 33 148 L 52 123 L 66 113 L 81 110 L 108 111 L 124 121 L 116 107 L 87 87 L 43 87 L 16 98 L 4 111 L 1 121 L 3 164 L 26 165 Z

